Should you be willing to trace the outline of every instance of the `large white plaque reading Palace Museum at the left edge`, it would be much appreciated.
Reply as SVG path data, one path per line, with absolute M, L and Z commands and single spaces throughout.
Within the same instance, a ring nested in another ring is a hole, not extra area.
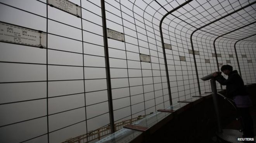
M 0 41 L 45 48 L 46 34 L 0 22 Z

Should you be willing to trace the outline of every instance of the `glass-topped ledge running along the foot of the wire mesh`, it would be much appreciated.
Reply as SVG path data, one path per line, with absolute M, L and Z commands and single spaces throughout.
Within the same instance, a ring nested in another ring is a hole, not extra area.
M 149 136 L 166 123 L 175 118 L 175 114 L 181 114 L 192 106 L 201 103 L 202 100 L 211 98 L 211 94 L 205 93 L 201 96 L 193 96 L 184 101 L 171 105 L 168 108 L 159 109 L 156 113 L 150 114 L 143 119 L 140 119 L 133 124 L 124 126 L 119 131 L 102 138 L 96 143 L 115 143 L 115 142 L 143 142 L 145 136 Z M 147 142 L 147 141 L 146 141 Z

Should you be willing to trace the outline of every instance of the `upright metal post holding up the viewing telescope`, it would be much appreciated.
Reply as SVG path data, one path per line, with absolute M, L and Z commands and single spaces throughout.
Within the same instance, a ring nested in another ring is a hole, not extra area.
M 217 101 L 216 81 L 211 79 L 210 82 L 211 82 L 211 93 L 213 96 L 213 105 L 214 105 L 214 110 L 215 110 L 216 119 L 217 119 L 218 133 L 222 133 L 221 122 L 220 122 L 220 112 L 219 112 L 218 101 Z

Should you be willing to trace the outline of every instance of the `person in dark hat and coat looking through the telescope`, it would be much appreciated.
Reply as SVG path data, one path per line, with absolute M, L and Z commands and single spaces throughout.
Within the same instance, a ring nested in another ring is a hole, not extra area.
M 227 98 L 234 100 L 242 118 L 243 137 L 254 138 L 253 119 L 249 110 L 253 104 L 244 86 L 244 81 L 239 76 L 237 70 L 233 71 L 233 67 L 230 65 L 223 65 L 221 71 L 228 75 L 228 79 L 225 79 L 220 72 L 213 73 L 214 79 L 221 85 L 226 85 Z

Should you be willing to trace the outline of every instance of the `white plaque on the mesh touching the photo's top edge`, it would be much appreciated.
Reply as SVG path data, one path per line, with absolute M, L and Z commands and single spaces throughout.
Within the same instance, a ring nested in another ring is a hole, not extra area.
M 77 17 L 81 17 L 81 7 L 68 0 L 48 0 L 48 4 Z

